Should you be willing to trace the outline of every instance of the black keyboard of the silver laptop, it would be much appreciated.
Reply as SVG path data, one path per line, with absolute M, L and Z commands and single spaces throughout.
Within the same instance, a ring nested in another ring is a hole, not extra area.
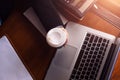
M 109 40 L 87 33 L 70 80 L 96 80 Z

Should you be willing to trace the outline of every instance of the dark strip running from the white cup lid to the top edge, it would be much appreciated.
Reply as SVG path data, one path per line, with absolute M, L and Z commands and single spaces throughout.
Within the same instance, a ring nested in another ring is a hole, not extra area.
M 33 8 L 46 31 L 63 25 L 56 8 L 50 0 L 36 0 L 36 2 L 33 3 Z

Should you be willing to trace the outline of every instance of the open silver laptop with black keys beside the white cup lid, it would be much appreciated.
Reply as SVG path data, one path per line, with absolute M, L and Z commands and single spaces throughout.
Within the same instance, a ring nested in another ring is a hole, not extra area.
M 44 80 L 109 80 L 120 38 L 68 22 L 67 43 L 57 49 Z

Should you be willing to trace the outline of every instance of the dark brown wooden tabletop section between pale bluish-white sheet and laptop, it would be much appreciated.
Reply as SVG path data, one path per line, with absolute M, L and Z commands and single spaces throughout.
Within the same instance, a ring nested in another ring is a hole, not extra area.
M 13 12 L 0 29 L 2 35 L 7 35 L 34 80 L 43 80 L 55 49 L 42 34 L 21 13 Z

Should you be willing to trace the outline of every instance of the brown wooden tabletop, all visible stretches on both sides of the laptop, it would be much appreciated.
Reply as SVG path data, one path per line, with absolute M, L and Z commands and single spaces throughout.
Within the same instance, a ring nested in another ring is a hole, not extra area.
M 120 0 L 98 0 L 97 3 L 120 17 Z M 90 10 L 80 24 L 118 36 L 120 30 Z M 34 80 L 43 80 L 55 50 L 46 43 L 41 33 L 19 12 L 13 12 L 0 27 L 0 36 L 6 35 Z M 120 80 L 120 54 L 111 80 Z

